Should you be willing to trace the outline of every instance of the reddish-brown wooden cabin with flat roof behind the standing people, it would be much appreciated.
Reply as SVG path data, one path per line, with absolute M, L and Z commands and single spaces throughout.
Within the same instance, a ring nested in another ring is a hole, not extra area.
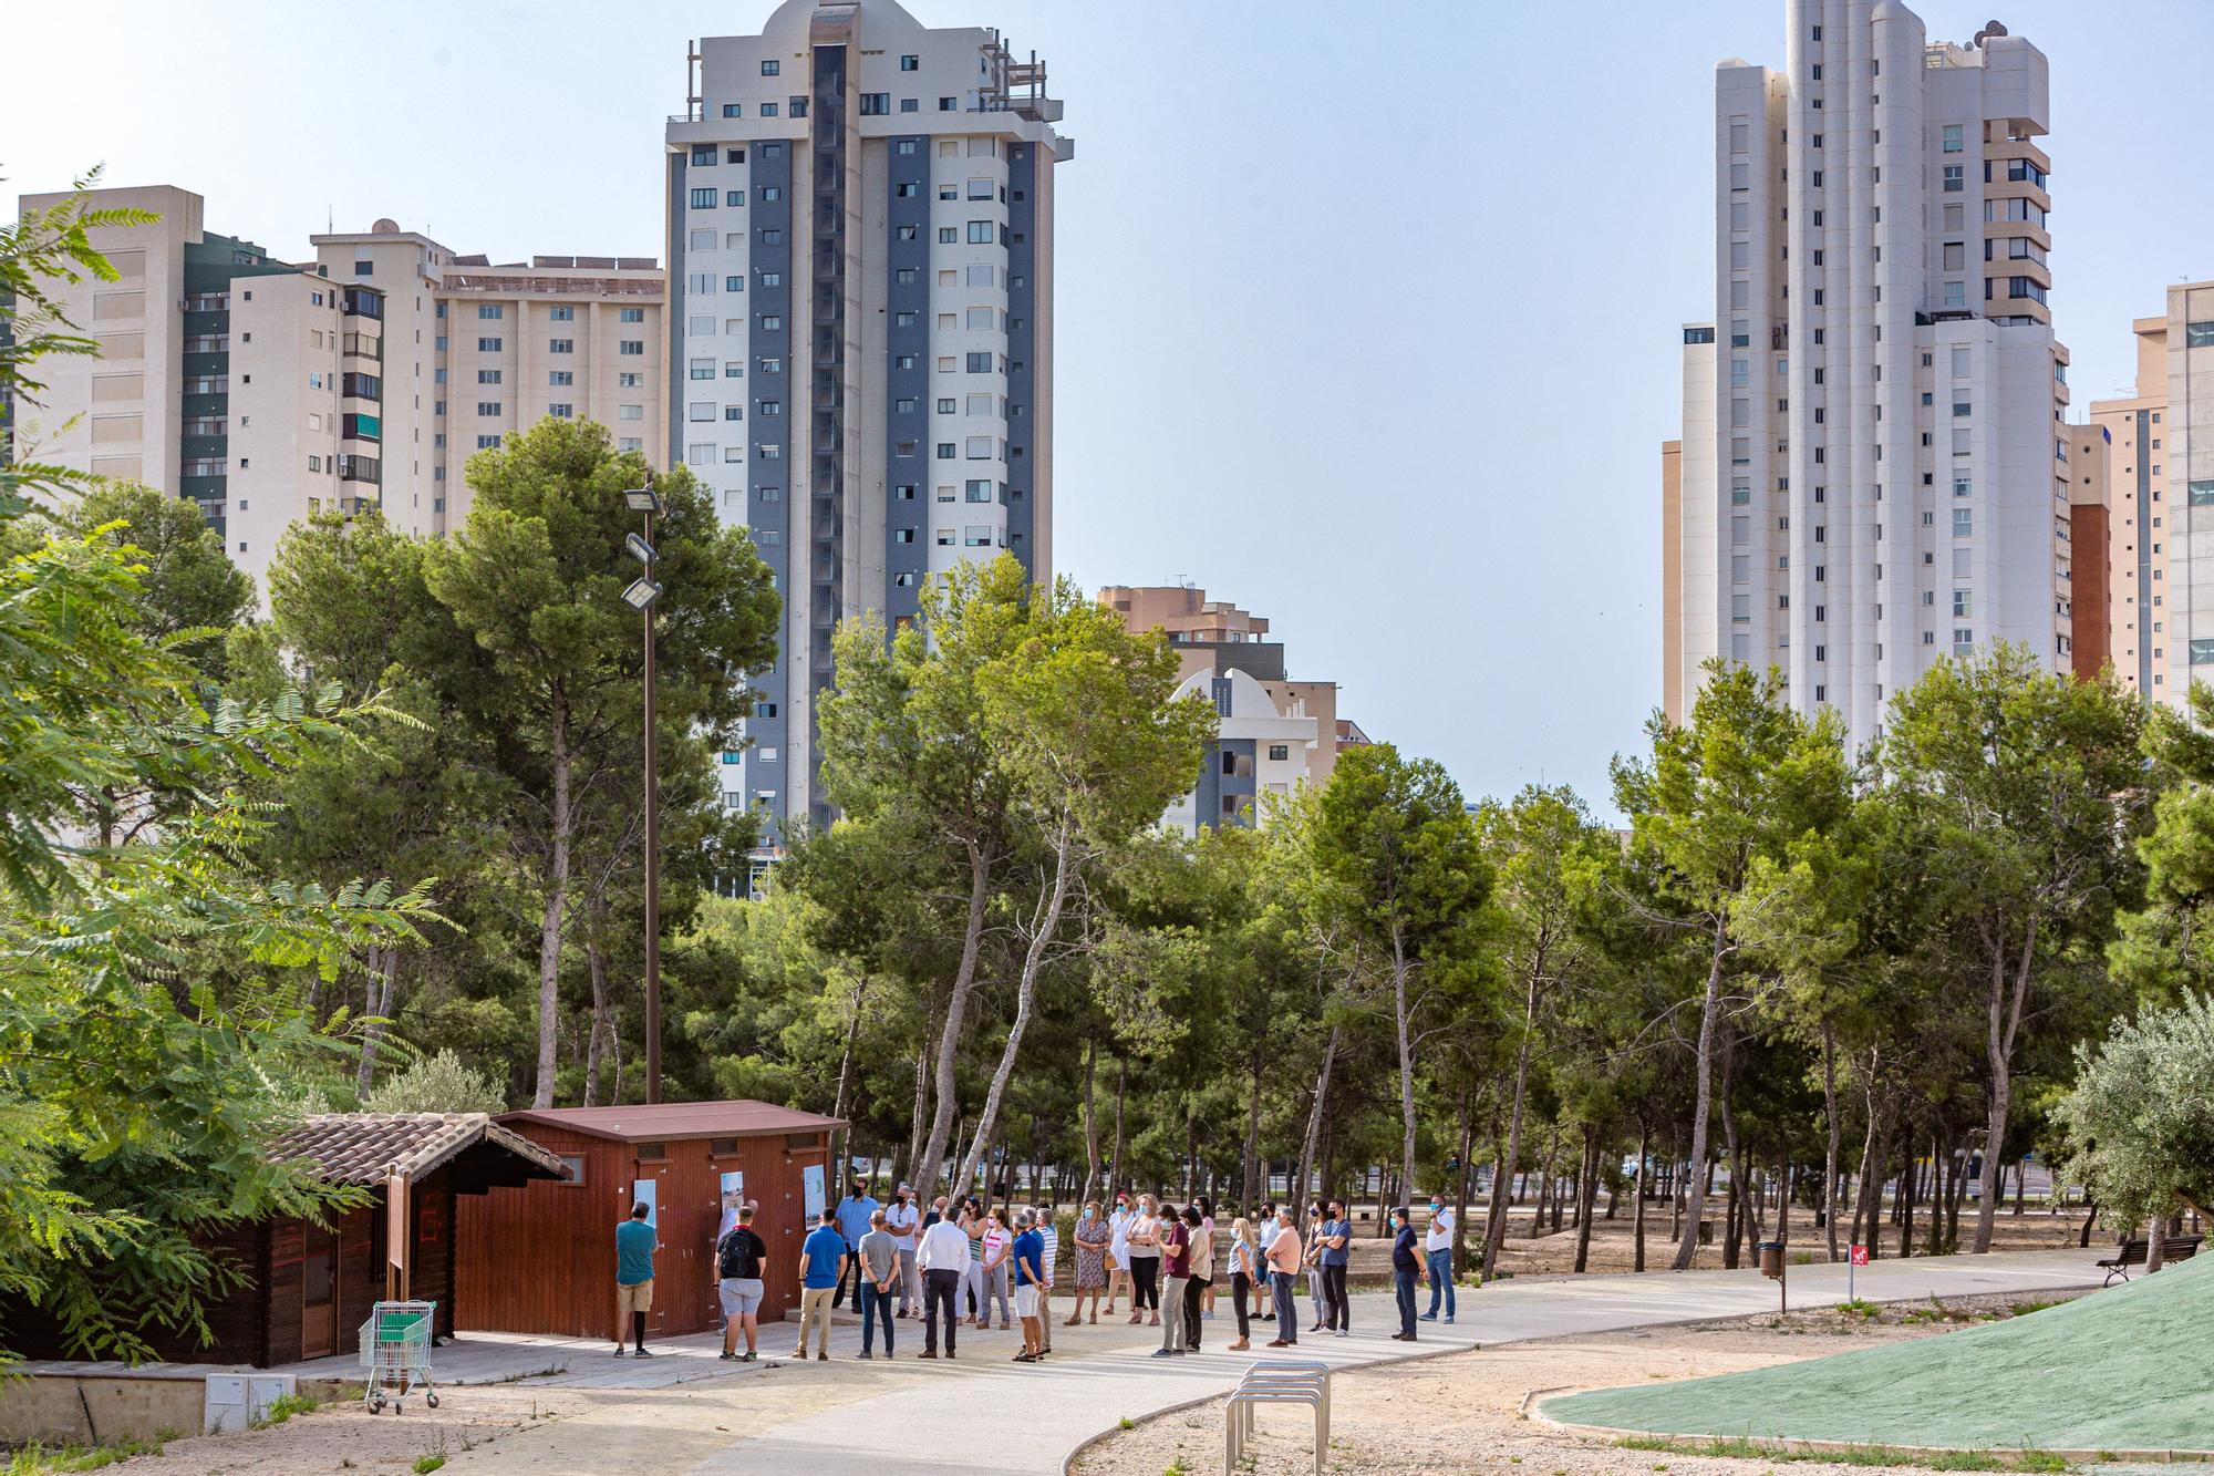
M 613 1341 L 615 1226 L 638 1183 L 651 1183 L 660 1252 L 653 1336 L 722 1325 L 715 1239 L 724 1179 L 737 1175 L 753 1228 L 768 1241 L 762 1321 L 799 1305 L 799 1243 L 810 1192 L 837 1199 L 830 1132 L 841 1121 L 766 1101 L 529 1108 L 500 1126 L 556 1155 L 562 1181 L 494 1190 L 461 1203 L 463 1328 Z M 810 1172 L 813 1170 L 813 1172 Z M 735 1201 L 728 1206 L 735 1212 Z

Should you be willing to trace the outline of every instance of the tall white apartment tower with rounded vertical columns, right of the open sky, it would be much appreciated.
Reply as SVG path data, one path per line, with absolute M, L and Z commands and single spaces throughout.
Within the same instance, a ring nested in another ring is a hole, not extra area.
M 1683 691 L 1778 667 L 1866 742 L 1937 656 L 2068 665 L 2066 350 L 2046 58 L 1895 0 L 1789 0 L 1716 69 L 1711 321 L 1685 328 Z M 1672 683 L 1674 685 L 1674 683 Z

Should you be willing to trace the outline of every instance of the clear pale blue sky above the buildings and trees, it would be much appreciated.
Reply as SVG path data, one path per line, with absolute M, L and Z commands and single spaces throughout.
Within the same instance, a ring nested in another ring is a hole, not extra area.
M 662 253 L 686 42 L 768 0 L 18 0 L 0 191 L 179 184 L 279 257 L 379 215 L 494 262 Z M 1475 796 L 1574 785 L 1660 700 L 1660 441 L 1711 317 L 1711 66 L 1782 0 L 908 0 L 1049 64 L 1054 558 L 1273 625 Z M 2214 277 L 2214 4 L 1920 0 L 2052 58 L 2072 417 Z M 2163 58 L 2168 66 L 2163 69 Z M 2150 140 L 2185 140 L 2161 153 Z

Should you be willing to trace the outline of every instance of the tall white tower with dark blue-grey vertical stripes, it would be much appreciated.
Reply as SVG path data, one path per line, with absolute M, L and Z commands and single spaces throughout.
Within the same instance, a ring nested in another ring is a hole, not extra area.
M 726 804 L 824 824 L 815 698 L 846 616 L 1001 550 L 1052 576 L 1045 66 L 894 0 L 786 0 L 706 38 L 669 120 L 669 450 L 784 594 Z

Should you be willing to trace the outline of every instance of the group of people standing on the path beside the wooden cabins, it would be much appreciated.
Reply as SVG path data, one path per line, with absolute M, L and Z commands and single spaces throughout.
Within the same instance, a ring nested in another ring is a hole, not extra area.
M 753 1230 L 753 1206 L 737 1210 L 735 1223 L 715 1246 L 720 1296 L 724 1312 L 722 1356 L 751 1363 L 759 1354 L 757 1312 L 766 1285 L 768 1246 Z M 1149 1323 L 1162 1330 L 1156 1359 L 1173 1359 L 1200 1350 L 1202 1325 L 1215 1314 L 1220 1283 L 1231 1290 L 1238 1316 L 1238 1341 L 1229 1352 L 1251 1347 L 1255 1321 L 1275 1323 L 1266 1347 L 1293 1347 L 1300 1341 L 1297 1281 L 1306 1274 L 1313 1325 L 1308 1332 L 1348 1336 L 1353 1305 L 1346 1294 L 1353 1221 L 1339 1201 L 1313 1201 L 1306 1232 L 1293 1221 L 1291 1206 L 1262 1206 L 1258 1219 L 1233 1217 L 1229 1230 L 1215 1223 L 1213 1206 L 1198 1195 L 1176 1208 L 1153 1195 L 1122 1192 L 1111 1212 L 1100 1203 L 1083 1206 L 1074 1226 L 1076 1301 L 1065 1321 L 1098 1323 L 1100 1296 L 1107 1316 L 1129 1292 L 1131 1325 Z M 1417 1321 L 1455 1314 L 1452 1299 L 1452 1212 L 1439 1197 L 1430 1199 L 1430 1223 L 1417 1234 L 1406 1208 L 1393 1210 L 1393 1279 L 1399 1301 L 1399 1341 L 1415 1341 Z M 615 1356 L 624 1356 L 622 1336 L 635 1343 L 633 1356 L 646 1356 L 644 1321 L 653 1296 L 653 1228 L 646 1206 L 618 1228 L 618 1332 Z M 921 1359 L 952 1359 L 956 1328 L 992 1328 L 992 1305 L 999 1303 L 999 1328 L 1023 1330 L 1023 1352 L 1016 1363 L 1038 1363 L 1052 1347 L 1052 1285 L 1061 1252 L 1054 1214 L 1045 1208 L 985 1208 L 976 1197 L 952 1201 L 939 1197 L 930 1208 L 917 1203 L 901 1183 L 892 1203 L 879 1203 L 863 1179 L 835 1208 L 821 1212 L 799 1250 L 799 1345 L 795 1359 L 806 1359 L 810 1334 L 815 1356 L 830 1356 L 830 1312 L 846 1303 L 848 1288 L 861 1312 L 861 1359 L 892 1356 L 894 1323 L 923 1323 Z M 1415 1314 L 1415 1285 L 1430 1283 L 1430 1310 Z M 1010 1321 L 1010 1290 L 1014 1321 Z M 1089 1301 L 1089 1319 L 1085 1303 Z M 1167 1303 L 1167 1316 L 1162 1314 Z M 746 1350 L 737 1352 L 744 1336 Z M 941 1352 L 943 1347 L 943 1352 Z

